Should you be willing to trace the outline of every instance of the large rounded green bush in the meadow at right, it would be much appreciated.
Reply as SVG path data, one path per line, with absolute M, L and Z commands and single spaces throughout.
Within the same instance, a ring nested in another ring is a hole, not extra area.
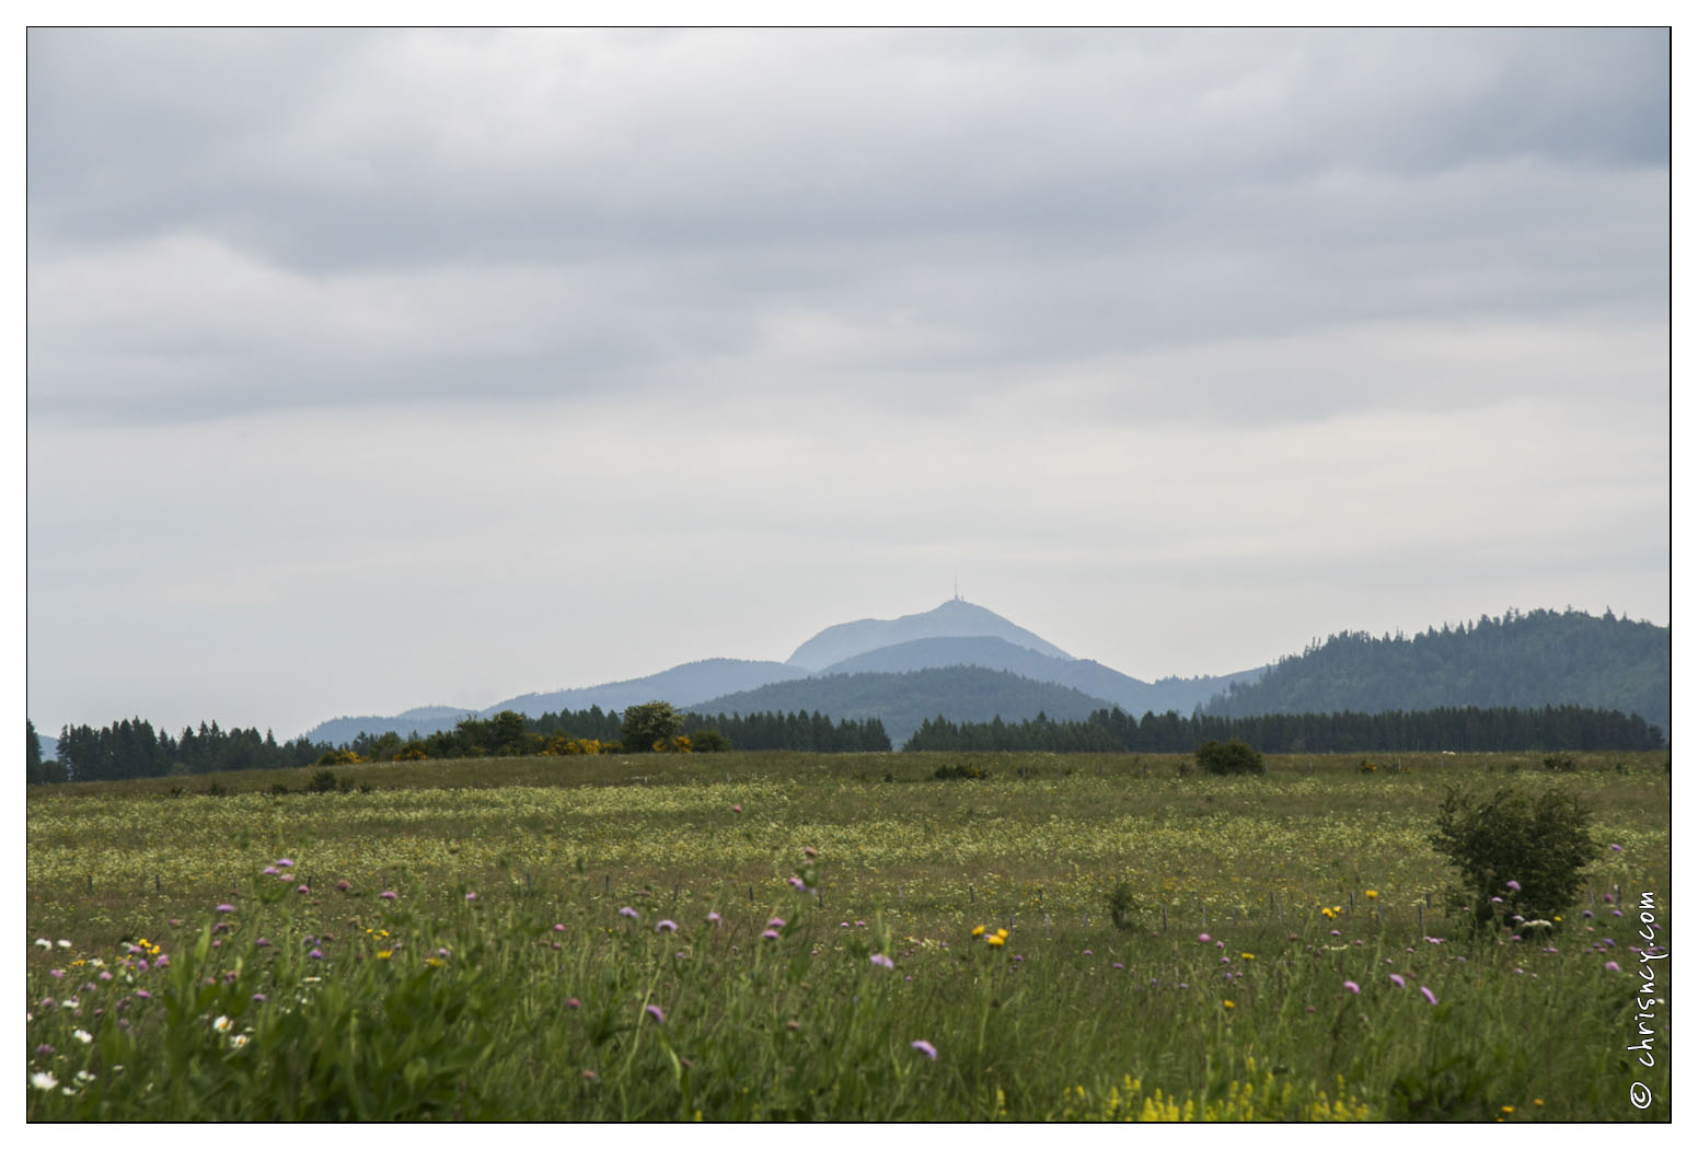
M 1430 841 L 1460 870 L 1476 926 L 1516 916 L 1554 921 L 1574 904 L 1581 872 L 1600 853 L 1589 821 L 1584 804 L 1560 790 L 1528 799 L 1504 787 L 1470 799 L 1447 789 Z

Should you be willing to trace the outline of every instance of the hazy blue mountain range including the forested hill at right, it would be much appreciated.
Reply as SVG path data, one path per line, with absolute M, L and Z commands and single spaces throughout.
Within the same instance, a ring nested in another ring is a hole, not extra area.
M 1576 616 L 1596 626 L 1576 624 Z M 1550 619 L 1567 621 L 1560 638 Z M 1540 638 L 1520 646 L 1506 638 L 1533 633 Z M 1487 646 L 1496 655 L 1484 655 Z M 1552 667 L 1562 668 L 1560 673 Z M 1520 670 L 1511 673 L 1511 668 Z M 312 728 L 307 738 L 346 743 L 360 733 L 430 734 L 467 714 L 623 711 L 655 699 L 698 714 L 818 711 L 832 719 L 878 717 L 895 746 L 937 716 L 954 721 L 1002 716 L 1017 723 L 1039 712 L 1083 719 L 1109 707 L 1143 716 L 1190 714 L 1199 707 L 1258 714 L 1574 702 L 1639 712 L 1667 733 L 1669 629 L 1579 612 L 1510 612 L 1501 621 L 1482 617 L 1479 624 L 1447 626 L 1416 639 L 1333 636 L 1272 668 L 1150 684 L 1073 658 L 993 611 L 951 599 L 898 619 L 825 628 L 783 663 L 710 658 L 644 678 L 516 695 L 475 712 L 416 707 L 399 716 L 340 717 Z

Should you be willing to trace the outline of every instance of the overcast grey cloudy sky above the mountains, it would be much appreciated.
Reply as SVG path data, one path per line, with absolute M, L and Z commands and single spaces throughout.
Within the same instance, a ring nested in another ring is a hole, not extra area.
M 1664 31 L 31 31 L 27 709 L 292 738 L 956 587 L 1669 622 Z

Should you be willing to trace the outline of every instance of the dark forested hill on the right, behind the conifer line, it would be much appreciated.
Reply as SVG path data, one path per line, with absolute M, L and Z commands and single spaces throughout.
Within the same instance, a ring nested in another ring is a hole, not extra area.
M 1510 611 L 1414 638 L 1335 634 L 1207 714 L 1425 711 L 1577 704 L 1639 714 L 1669 734 L 1669 628 L 1605 612 Z

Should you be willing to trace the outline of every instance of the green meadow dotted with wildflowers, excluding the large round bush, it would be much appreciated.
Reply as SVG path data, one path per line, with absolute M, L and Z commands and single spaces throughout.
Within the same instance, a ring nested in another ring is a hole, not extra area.
M 29 1114 L 1667 1119 L 1667 967 L 1647 1009 L 1628 950 L 1642 892 L 1669 943 L 1667 753 L 1372 758 L 32 787 Z M 1550 938 L 1470 936 L 1428 843 L 1447 785 L 1562 787 L 1620 850 Z

